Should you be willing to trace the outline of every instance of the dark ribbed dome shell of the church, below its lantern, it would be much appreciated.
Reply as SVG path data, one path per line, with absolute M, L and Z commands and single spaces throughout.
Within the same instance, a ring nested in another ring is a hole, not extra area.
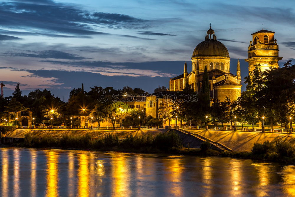
M 196 46 L 193 57 L 196 56 L 226 56 L 229 57 L 227 48 L 215 39 L 207 39 Z

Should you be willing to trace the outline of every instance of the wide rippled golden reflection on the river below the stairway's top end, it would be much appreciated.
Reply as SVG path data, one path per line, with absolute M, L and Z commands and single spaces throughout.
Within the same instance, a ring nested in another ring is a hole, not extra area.
M 183 166 L 181 165 L 181 156 L 173 159 L 165 160 L 165 167 L 167 170 L 166 178 L 171 182 L 171 187 L 168 188 L 168 193 L 172 196 L 182 196 L 183 188 L 181 181 L 181 174 Z

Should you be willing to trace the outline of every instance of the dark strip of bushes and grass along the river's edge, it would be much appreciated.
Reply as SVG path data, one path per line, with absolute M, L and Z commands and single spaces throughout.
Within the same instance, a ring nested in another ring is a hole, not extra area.
M 252 151 L 224 151 L 209 149 L 211 144 L 204 142 L 201 148 L 185 148 L 179 135 L 175 132 L 158 133 L 157 135 L 133 135 L 119 140 L 115 134 L 105 134 L 101 139 L 91 139 L 86 133 L 82 136 L 64 135 L 61 138 L 35 138 L 26 134 L 21 143 L 6 145 L 26 148 L 56 148 L 71 150 L 115 151 L 149 154 L 182 154 L 195 156 L 222 156 L 241 159 L 254 159 L 285 164 L 295 164 L 295 148 L 285 141 L 275 143 L 255 143 Z M 6 146 L 5 145 L 5 146 Z M 7 147 L 7 146 L 6 146 Z

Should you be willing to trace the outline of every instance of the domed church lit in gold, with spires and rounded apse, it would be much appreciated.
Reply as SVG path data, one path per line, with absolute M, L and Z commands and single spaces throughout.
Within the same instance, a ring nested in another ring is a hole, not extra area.
M 214 30 L 210 27 L 205 40 L 194 49 L 191 57 L 192 71 L 187 72 L 184 64 L 183 74 L 170 79 L 170 91 L 182 91 L 188 83 L 194 91 L 201 91 L 205 67 L 209 76 L 211 99 L 224 101 L 227 97 L 236 100 L 241 95 L 240 61 L 237 63 L 237 75 L 230 73 L 230 56 L 227 48 L 217 41 Z

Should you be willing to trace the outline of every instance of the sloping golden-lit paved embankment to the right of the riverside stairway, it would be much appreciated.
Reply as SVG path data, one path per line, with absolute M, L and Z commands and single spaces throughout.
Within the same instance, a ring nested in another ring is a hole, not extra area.
M 295 134 L 191 129 L 188 129 L 187 131 L 220 142 L 234 151 L 251 151 L 251 148 L 256 142 L 271 142 L 278 139 L 283 139 L 295 144 Z

